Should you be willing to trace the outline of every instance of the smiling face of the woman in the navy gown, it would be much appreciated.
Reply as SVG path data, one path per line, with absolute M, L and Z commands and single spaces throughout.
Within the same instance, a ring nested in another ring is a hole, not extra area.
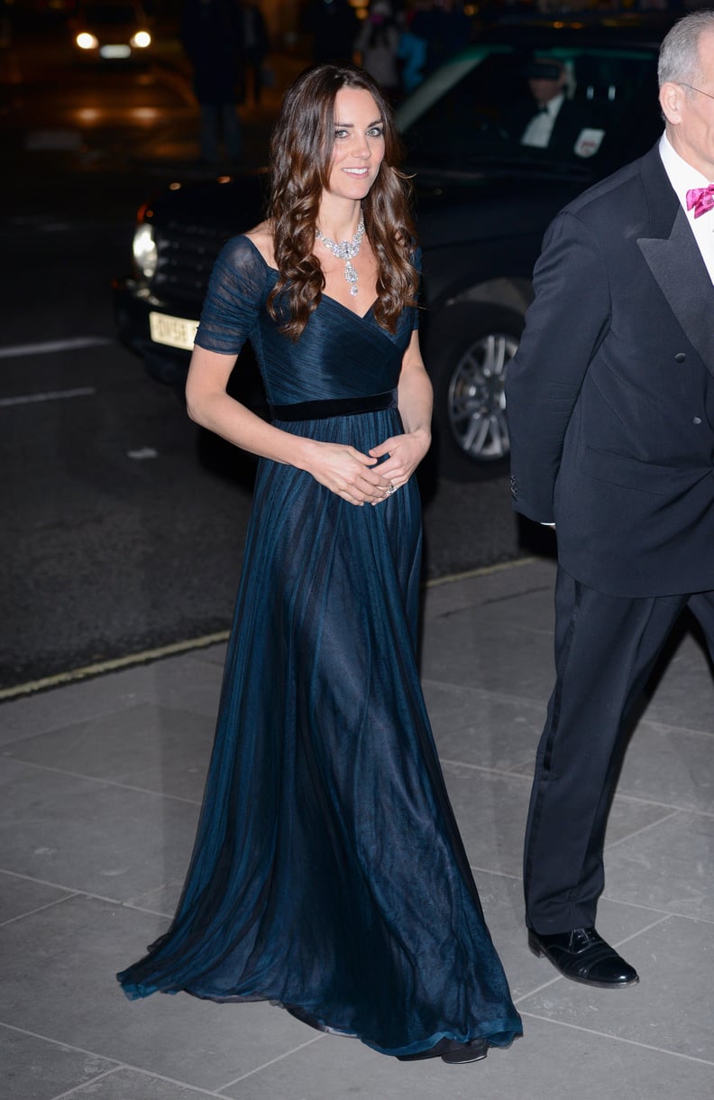
M 327 191 L 361 200 L 384 157 L 384 123 L 370 92 L 341 88 L 335 96 L 335 138 Z

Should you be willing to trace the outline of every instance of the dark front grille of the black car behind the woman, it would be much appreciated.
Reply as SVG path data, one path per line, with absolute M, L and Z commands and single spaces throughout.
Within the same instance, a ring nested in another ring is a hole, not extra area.
M 233 232 L 228 227 L 177 221 L 156 226 L 158 262 L 152 292 L 159 298 L 180 298 L 200 306 L 215 257 Z

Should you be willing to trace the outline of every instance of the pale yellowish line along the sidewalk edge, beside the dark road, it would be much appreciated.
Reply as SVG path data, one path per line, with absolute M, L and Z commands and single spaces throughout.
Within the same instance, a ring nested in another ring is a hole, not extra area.
M 478 576 L 490 576 L 493 573 L 502 573 L 507 570 L 518 569 L 536 561 L 535 558 L 515 558 L 512 561 L 498 562 L 493 565 L 481 565 L 477 569 L 466 570 L 462 573 L 448 573 L 445 576 L 434 578 L 424 583 L 425 588 L 437 588 L 444 584 L 455 584 L 457 581 L 468 581 Z M 41 691 L 48 691 L 53 688 L 62 688 L 78 680 L 88 680 L 91 676 L 105 675 L 108 672 L 118 672 L 121 669 L 132 668 L 137 664 L 148 664 L 152 661 L 161 660 L 165 657 L 175 657 L 179 653 L 187 653 L 193 649 L 205 649 L 209 646 L 216 646 L 227 641 L 230 630 L 219 630 L 215 634 L 205 634 L 199 638 L 187 638 L 183 641 L 174 641 L 166 646 L 157 646 L 154 649 L 145 649 L 138 653 L 126 653 L 124 657 L 114 657 L 105 661 L 98 661 L 94 664 L 85 664 L 78 669 L 68 669 L 66 672 L 56 672 L 51 676 L 42 676 L 40 680 L 30 680 L 25 683 L 14 684 L 11 688 L 0 689 L 0 703 L 8 700 L 19 698 L 22 695 L 34 695 Z

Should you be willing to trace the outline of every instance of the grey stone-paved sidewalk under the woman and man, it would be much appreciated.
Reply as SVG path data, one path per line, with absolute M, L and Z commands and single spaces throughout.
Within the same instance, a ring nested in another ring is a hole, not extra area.
M 553 676 L 554 568 L 426 595 L 423 679 L 456 815 L 525 1034 L 486 1062 L 403 1064 L 267 1004 L 130 1003 L 114 972 L 165 926 L 213 734 L 215 645 L 0 706 L 0 1094 L 7 1100 L 711 1100 L 714 729 L 684 634 L 628 750 L 600 928 L 640 983 L 529 954 L 521 845 Z

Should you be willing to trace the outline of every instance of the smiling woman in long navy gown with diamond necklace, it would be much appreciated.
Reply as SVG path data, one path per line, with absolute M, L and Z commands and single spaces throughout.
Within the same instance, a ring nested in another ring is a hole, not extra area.
M 196 847 L 130 998 L 269 1000 L 409 1060 L 521 1034 L 417 673 L 419 251 L 380 89 L 288 90 L 269 218 L 219 256 L 191 417 L 260 455 Z M 271 422 L 226 393 L 243 343 Z

